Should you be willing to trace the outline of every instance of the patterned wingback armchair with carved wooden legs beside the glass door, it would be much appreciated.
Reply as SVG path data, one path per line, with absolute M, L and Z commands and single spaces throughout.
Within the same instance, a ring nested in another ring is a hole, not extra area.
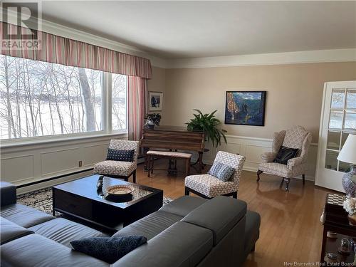
M 305 171 L 307 169 L 308 150 L 311 140 L 311 133 L 307 132 L 302 126 L 295 126 L 289 130 L 275 132 L 273 135 L 272 152 L 265 152 L 261 155 L 263 163 L 258 166 L 257 182 L 260 180 L 262 172 L 268 172 L 269 174 L 283 177 L 281 187 L 283 182 L 286 181 L 286 191 L 289 191 L 290 178 L 300 174 L 303 177 L 303 184 L 305 184 Z M 289 159 L 286 165 L 273 162 L 281 145 L 299 149 L 297 157 Z

